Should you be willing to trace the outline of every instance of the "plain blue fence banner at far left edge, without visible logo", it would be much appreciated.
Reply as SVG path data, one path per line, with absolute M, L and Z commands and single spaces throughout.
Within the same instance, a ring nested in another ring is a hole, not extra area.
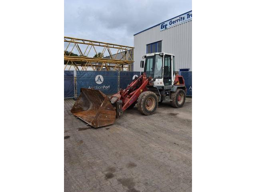
M 64 98 L 74 98 L 74 71 L 64 71 Z

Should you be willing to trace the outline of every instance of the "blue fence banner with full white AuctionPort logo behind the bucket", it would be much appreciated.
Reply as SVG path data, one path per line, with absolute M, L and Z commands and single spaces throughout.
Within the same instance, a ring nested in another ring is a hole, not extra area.
M 76 71 L 77 96 L 80 95 L 81 88 L 114 94 L 118 92 L 118 71 Z

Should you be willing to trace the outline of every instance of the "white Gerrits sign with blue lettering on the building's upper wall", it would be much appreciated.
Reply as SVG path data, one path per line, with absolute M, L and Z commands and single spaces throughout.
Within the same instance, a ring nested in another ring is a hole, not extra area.
M 179 24 L 192 20 L 192 11 L 186 12 L 183 15 L 172 18 L 160 24 L 160 31 L 177 26 Z

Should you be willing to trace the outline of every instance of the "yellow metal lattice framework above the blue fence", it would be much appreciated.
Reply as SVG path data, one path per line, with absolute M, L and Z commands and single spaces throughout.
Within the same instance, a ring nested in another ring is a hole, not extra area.
M 68 44 L 64 48 L 64 70 L 66 70 L 67 66 L 69 66 L 68 70 L 70 70 L 71 66 L 74 66 L 75 70 L 130 71 L 131 64 L 134 62 L 134 47 L 66 36 L 64 36 L 64 42 Z M 102 51 L 97 52 L 96 47 L 102 47 Z M 72 56 L 74 51 L 78 53 L 76 54 L 77 56 Z M 103 57 L 106 51 L 109 56 Z M 89 57 L 94 53 L 98 58 Z

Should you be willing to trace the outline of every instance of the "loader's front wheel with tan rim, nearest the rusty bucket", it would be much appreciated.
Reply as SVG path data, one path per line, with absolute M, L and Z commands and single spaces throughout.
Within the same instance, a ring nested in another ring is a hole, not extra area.
M 138 110 L 144 115 L 152 115 L 156 112 L 158 106 L 158 98 L 154 92 L 145 91 L 138 97 Z

